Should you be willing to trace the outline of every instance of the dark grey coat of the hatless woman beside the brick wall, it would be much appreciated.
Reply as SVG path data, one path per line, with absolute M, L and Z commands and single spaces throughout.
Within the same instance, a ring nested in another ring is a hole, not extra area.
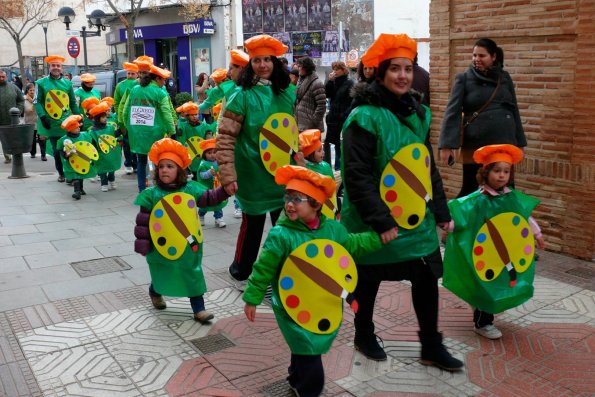
M 465 128 L 461 142 L 461 113 L 464 121 L 467 121 L 473 112 L 479 110 L 494 92 L 498 76 L 500 87 L 496 96 L 475 121 Z M 442 120 L 438 147 L 477 149 L 503 143 L 527 146 L 512 78 L 500 67 L 493 67 L 487 75 L 469 67 L 455 78 Z

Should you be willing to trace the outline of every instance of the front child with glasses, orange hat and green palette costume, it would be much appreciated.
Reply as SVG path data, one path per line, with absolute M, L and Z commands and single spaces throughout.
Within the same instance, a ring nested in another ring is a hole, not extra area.
M 378 250 L 382 242 L 369 231 L 349 234 L 321 214 L 335 182 L 300 166 L 283 166 L 275 182 L 286 185 L 285 213 L 264 243 L 243 295 L 244 313 L 256 318 L 256 306 L 272 286 L 272 305 L 291 349 L 287 380 L 299 396 L 319 396 L 324 387 L 321 355 L 329 351 L 342 321 L 343 299 L 354 311 L 351 292 L 357 270 L 350 254 Z

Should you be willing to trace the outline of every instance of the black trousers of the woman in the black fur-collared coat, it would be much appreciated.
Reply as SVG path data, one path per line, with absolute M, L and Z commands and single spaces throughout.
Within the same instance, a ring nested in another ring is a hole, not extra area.
M 409 280 L 422 344 L 438 335 L 438 279 L 424 261 L 357 265 L 357 273 L 358 282 L 353 293 L 359 304 L 354 321 L 356 334 L 363 337 L 374 334 L 374 303 L 380 282 Z

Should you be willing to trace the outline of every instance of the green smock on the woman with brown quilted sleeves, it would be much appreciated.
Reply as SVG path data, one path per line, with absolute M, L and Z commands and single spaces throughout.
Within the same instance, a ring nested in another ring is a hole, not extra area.
M 293 115 L 295 91 L 287 88 L 274 95 L 268 85 L 256 85 L 249 90 L 234 91 L 227 102 L 226 111 L 244 117 L 234 149 L 237 173 L 236 198 L 242 210 L 250 215 L 260 215 L 283 208 L 285 188 L 275 183 L 260 157 L 260 128 L 274 113 Z

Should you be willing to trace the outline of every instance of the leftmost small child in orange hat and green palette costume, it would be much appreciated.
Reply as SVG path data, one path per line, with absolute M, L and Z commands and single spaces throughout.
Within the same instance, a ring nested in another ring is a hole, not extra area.
M 72 181 L 74 193 L 72 198 L 80 200 L 84 196 L 83 179 L 94 178 L 97 175 L 95 161 L 97 150 L 93 146 L 93 139 L 86 132 L 81 132 L 82 116 L 68 116 L 61 124 L 66 135 L 56 143 L 56 150 L 60 152 L 64 176 Z

